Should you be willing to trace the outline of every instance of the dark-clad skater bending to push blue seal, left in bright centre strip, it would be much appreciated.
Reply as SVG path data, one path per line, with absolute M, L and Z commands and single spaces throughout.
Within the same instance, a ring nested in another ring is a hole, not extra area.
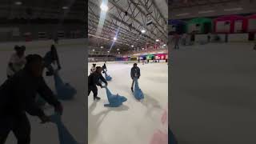
M 106 79 L 102 76 L 102 67 L 97 66 L 94 73 L 90 74 L 88 77 L 88 96 L 90 95 L 90 91 L 93 91 L 94 93 L 94 100 L 100 100 L 101 98 L 98 97 L 98 88 L 97 86 L 101 86 L 102 84 L 99 82 L 99 80 L 102 80 L 107 86 Z

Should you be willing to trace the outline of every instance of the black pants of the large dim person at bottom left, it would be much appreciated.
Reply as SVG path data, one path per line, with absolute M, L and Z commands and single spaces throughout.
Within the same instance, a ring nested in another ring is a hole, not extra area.
M 31 127 L 25 113 L 0 119 L 0 144 L 6 142 L 10 131 L 13 131 L 18 144 L 30 144 Z

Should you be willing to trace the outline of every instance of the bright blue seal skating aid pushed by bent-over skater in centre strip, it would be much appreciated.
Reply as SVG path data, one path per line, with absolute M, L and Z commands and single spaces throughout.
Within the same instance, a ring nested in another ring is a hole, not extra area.
M 104 88 L 106 88 L 106 96 L 107 99 L 109 100 L 109 104 L 105 104 L 104 106 L 108 106 L 108 107 L 118 107 L 122 105 L 122 102 L 126 102 L 127 98 L 124 96 L 121 96 L 119 94 L 111 94 L 110 90 L 104 86 Z

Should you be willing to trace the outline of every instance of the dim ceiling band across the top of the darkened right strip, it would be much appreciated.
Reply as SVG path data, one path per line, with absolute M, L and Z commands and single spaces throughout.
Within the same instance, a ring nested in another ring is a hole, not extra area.
M 170 0 L 169 19 L 256 13 L 256 0 Z

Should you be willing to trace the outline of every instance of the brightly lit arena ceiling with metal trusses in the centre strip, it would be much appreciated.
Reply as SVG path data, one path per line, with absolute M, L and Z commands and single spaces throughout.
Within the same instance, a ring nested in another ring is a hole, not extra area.
M 107 2 L 106 15 L 101 9 L 102 1 Z M 89 0 L 90 54 L 138 50 L 146 44 L 153 45 L 157 39 L 167 43 L 167 21 L 166 0 Z

